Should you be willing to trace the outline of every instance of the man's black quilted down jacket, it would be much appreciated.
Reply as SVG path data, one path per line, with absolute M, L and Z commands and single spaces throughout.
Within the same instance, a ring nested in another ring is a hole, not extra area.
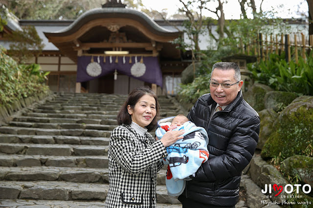
M 241 91 L 231 104 L 211 118 L 215 106 L 211 95 L 205 94 L 187 116 L 206 129 L 210 156 L 193 180 L 187 181 L 182 194 L 203 204 L 234 206 L 239 197 L 241 173 L 259 139 L 260 117 L 243 99 Z

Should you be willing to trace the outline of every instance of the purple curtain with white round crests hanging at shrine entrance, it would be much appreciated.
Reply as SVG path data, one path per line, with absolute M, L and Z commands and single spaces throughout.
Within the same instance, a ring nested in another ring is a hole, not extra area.
M 147 83 L 155 83 L 159 86 L 162 86 L 162 72 L 157 60 L 157 57 L 143 57 L 143 63 L 145 64 L 145 71 L 141 70 L 139 73 L 135 73 L 135 69 L 132 66 L 135 63 L 135 57 L 124 57 L 125 63 L 123 62 L 123 57 L 117 57 L 118 62 L 116 63 L 116 56 L 111 56 L 110 62 L 110 56 L 105 57 L 93 57 L 93 62 L 98 62 L 101 66 L 101 74 L 92 77 L 89 76 L 87 73 L 87 66 L 91 62 L 91 56 L 80 56 L 77 57 L 77 78 L 76 82 L 87 82 L 89 80 L 93 80 L 98 77 L 102 77 L 104 75 L 113 73 L 116 69 L 117 72 L 125 74 L 127 76 L 133 77 L 135 79 L 147 82 Z M 103 62 L 103 59 L 106 59 L 106 62 Z M 130 58 L 132 59 L 132 63 L 129 63 Z M 137 62 L 140 63 L 141 56 L 137 56 Z M 142 66 L 142 65 L 141 65 Z M 118 79 L 118 76 L 117 76 Z

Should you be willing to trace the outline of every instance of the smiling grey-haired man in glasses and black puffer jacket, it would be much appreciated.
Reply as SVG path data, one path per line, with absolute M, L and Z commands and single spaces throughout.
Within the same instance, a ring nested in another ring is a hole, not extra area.
M 183 208 L 235 208 L 242 171 L 259 139 L 260 117 L 243 99 L 239 66 L 215 63 L 209 82 L 210 93 L 187 117 L 206 129 L 210 156 L 179 196 Z

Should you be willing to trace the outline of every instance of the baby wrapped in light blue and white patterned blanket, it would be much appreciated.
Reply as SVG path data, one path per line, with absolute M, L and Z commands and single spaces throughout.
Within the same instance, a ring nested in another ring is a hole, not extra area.
M 158 125 L 157 139 L 161 139 L 166 131 L 185 130 L 183 139 L 166 147 L 168 156 L 162 160 L 168 165 L 165 180 L 167 192 L 171 196 L 179 196 L 186 186 L 185 180 L 190 180 L 189 176 L 208 160 L 208 136 L 204 128 L 196 126 L 183 114 L 161 119 Z

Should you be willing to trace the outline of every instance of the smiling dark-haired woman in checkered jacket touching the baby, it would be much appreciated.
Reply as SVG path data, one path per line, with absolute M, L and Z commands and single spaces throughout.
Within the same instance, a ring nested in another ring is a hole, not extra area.
M 161 169 L 165 147 L 175 143 L 183 130 L 171 131 L 157 140 L 154 129 L 159 115 L 156 94 L 138 87 L 128 96 L 117 115 L 109 145 L 109 182 L 106 208 L 156 207 L 156 173 Z

